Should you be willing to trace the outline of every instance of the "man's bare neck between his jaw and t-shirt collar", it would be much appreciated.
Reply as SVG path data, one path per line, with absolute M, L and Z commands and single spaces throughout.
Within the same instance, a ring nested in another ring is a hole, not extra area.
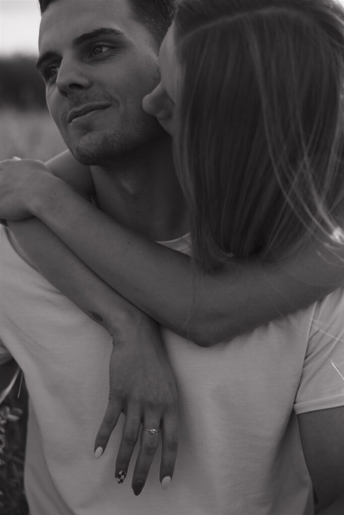
M 120 157 L 111 168 L 92 166 L 99 208 L 124 226 L 156 241 L 185 234 L 185 199 L 167 136 Z

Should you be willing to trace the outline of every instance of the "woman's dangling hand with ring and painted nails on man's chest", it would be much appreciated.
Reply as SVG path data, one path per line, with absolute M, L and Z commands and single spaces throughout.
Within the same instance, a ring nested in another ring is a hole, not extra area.
M 158 325 L 137 311 L 134 323 L 122 334 L 113 333 L 110 358 L 110 393 L 106 413 L 95 440 L 100 457 L 121 413 L 125 415 L 115 476 L 123 483 L 142 423 L 140 451 L 132 488 L 139 495 L 144 487 L 161 434 L 160 482 L 171 482 L 177 455 L 178 406 L 175 378 L 163 348 Z M 157 430 L 150 432 L 148 430 Z

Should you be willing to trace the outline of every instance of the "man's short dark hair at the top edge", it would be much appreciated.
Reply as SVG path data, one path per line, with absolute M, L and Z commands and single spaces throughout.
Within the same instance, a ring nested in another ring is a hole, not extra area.
M 57 1 L 39 0 L 41 14 L 50 4 Z M 174 0 L 128 0 L 128 2 L 135 19 L 149 30 L 159 48 L 173 20 Z

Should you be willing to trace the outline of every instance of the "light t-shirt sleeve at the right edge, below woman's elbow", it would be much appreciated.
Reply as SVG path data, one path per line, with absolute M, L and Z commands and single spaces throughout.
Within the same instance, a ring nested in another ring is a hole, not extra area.
M 344 406 L 344 288 L 316 305 L 294 411 L 338 406 Z

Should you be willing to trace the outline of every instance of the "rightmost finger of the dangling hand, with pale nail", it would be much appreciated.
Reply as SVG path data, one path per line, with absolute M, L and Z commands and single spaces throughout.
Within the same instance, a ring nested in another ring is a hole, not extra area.
M 161 464 L 160 483 L 166 490 L 173 477 L 178 452 L 178 409 L 171 410 L 161 421 Z

